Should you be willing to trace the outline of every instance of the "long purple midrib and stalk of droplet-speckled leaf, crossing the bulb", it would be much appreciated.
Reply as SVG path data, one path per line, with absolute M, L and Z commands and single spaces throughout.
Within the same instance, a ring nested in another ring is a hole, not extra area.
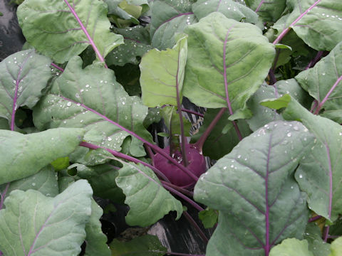
M 153 149 L 154 151 L 156 151 L 157 153 L 161 154 L 162 156 L 164 156 L 167 160 L 169 160 L 172 164 L 174 164 L 175 166 L 177 166 L 179 169 L 181 169 L 182 171 L 185 172 L 185 174 L 187 174 L 188 176 L 190 176 L 194 181 L 198 181 L 198 177 L 192 173 L 192 171 L 190 171 L 189 169 L 187 169 L 185 166 L 183 166 L 182 164 L 178 163 L 175 159 L 173 159 L 171 156 L 169 156 L 169 154 L 167 154 L 164 150 L 160 149 L 159 146 L 156 146 L 154 144 L 152 144 L 151 142 L 148 142 L 146 139 L 142 139 L 142 137 L 140 137 L 138 134 L 135 134 L 135 132 L 130 131 L 129 129 L 126 129 L 125 127 L 123 127 L 122 125 L 118 124 L 117 122 L 114 122 L 113 120 L 109 119 L 108 117 L 106 117 L 103 114 L 100 114 L 99 112 L 97 112 L 96 110 L 91 109 L 90 107 L 87 107 L 86 105 L 80 103 L 80 102 L 76 102 L 75 100 L 71 100 L 68 99 L 66 97 L 63 97 L 61 95 L 58 95 L 58 97 L 61 97 L 63 100 L 67 100 L 69 102 L 73 102 L 75 104 L 78 104 L 82 107 L 84 107 L 86 110 L 93 112 L 94 114 L 97 114 L 99 117 L 105 119 L 107 122 L 110 122 L 110 124 L 114 124 L 116 127 L 119 127 L 120 129 L 122 129 L 123 131 L 127 132 L 128 134 L 132 135 L 133 137 L 139 139 L 141 142 L 147 144 L 147 146 L 150 146 L 151 149 Z

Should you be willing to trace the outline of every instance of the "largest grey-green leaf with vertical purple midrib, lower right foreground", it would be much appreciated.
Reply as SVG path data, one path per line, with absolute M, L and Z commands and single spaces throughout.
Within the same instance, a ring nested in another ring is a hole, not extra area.
M 300 122 L 271 122 L 202 174 L 195 200 L 219 210 L 208 256 L 267 255 L 281 240 L 302 238 L 309 211 L 293 174 L 313 144 Z

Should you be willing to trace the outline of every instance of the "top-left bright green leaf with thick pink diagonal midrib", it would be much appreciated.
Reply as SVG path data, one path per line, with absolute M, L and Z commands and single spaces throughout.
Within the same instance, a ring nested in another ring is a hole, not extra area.
M 89 45 L 103 60 L 123 43 L 122 36 L 110 32 L 103 1 L 26 0 L 17 15 L 28 43 L 57 63 L 70 60 Z

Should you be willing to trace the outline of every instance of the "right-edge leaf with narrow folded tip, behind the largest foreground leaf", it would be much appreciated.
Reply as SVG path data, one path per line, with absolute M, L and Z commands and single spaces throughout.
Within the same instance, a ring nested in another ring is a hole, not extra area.
M 296 100 L 289 102 L 284 119 L 300 120 L 317 139 L 296 171 L 296 181 L 309 198 L 311 210 L 329 220 L 342 213 L 342 127 L 311 114 Z

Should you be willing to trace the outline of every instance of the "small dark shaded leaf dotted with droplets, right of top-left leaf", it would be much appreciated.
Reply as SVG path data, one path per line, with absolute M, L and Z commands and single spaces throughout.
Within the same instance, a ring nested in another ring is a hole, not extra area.
M 116 28 L 115 33 L 120 33 L 125 39 L 122 45 L 112 50 L 105 58 L 108 66 L 123 66 L 126 63 L 138 65 L 142 55 L 152 49 L 152 46 L 150 46 L 150 34 L 143 26 Z

